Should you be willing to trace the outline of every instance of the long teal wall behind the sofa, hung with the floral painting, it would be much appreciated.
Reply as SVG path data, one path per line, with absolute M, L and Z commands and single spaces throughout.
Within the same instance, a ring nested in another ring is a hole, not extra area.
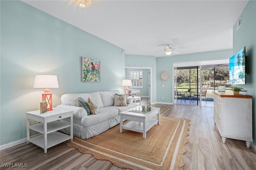
M 26 138 L 25 112 L 39 109 L 42 98 L 36 74 L 58 76 L 53 106 L 65 93 L 124 92 L 123 49 L 21 1 L 1 0 L 0 9 L 0 145 Z M 82 82 L 82 56 L 101 61 L 101 82 Z

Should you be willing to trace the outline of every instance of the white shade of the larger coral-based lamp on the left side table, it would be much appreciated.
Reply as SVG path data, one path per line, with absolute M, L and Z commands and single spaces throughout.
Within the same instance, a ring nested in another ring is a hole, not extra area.
M 56 75 L 36 75 L 33 88 L 59 88 Z

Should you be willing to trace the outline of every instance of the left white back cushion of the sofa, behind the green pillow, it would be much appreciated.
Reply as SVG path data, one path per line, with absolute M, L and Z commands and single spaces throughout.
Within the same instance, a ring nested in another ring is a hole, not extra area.
M 76 102 L 79 98 L 87 100 L 88 97 L 92 98 L 98 104 L 99 108 L 103 107 L 100 92 L 63 94 L 60 100 L 63 105 L 77 106 Z

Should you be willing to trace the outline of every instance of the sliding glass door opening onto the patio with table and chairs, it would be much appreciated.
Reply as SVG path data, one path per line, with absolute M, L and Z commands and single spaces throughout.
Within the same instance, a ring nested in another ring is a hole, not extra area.
M 228 64 L 174 68 L 174 103 L 213 107 L 213 91 L 230 91 Z

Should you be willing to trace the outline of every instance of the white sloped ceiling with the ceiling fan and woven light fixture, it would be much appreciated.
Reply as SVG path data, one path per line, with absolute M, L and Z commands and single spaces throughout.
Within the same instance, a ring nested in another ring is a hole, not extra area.
M 232 49 L 233 26 L 248 0 L 22 0 L 96 35 L 126 54 L 165 56 L 170 44 L 180 54 Z M 243 23 L 243 21 L 242 21 Z M 158 52 L 156 52 L 158 51 Z M 175 54 L 172 54 L 175 55 Z

